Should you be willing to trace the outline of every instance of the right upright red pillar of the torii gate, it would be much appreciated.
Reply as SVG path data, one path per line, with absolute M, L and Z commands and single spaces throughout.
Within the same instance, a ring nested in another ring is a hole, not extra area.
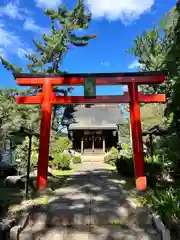
M 132 145 L 134 155 L 134 169 L 136 175 L 136 188 L 145 190 L 147 187 L 146 177 L 144 176 L 144 153 L 142 142 L 142 130 L 140 120 L 140 106 L 138 99 L 138 86 L 135 82 L 129 83 L 130 95 L 130 116 Z

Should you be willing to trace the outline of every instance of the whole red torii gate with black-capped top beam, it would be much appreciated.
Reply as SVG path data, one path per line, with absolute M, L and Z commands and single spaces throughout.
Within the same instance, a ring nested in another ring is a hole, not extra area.
M 165 94 L 143 95 L 138 92 L 138 85 L 161 84 L 165 75 L 161 72 L 150 73 L 96 73 L 96 74 L 15 74 L 16 83 L 20 86 L 42 86 L 42 92 L 37 96 L 18 96 L 18 104 L 41 104 L 42 116 L 40 127 L 40 145 L 37 171 L 37 190 L 47 187 L 49 137 L 51 129 L 52 104 L 99 104 L 99 103 L 129 103 L 131 131 L 134 155 L 136 188 L 146 189 L 144 176 L 144 154 L 142 130 L 140 121 L 140 102 L 166 102 Z M 95 78 L 96 85 L 128 85 L 128 92 L 117 96 L 56 96 L 52 87 L 57 85 L 84 85 L 84 79 Z

